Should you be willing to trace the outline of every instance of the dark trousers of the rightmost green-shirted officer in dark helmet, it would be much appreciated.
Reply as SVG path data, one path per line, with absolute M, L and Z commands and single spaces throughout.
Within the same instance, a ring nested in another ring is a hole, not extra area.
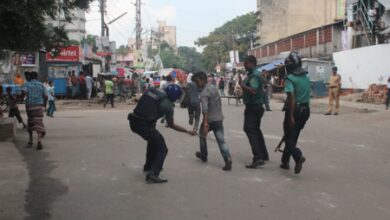
M 301 130 L 305 127 L 307 120 L 310 118 L 310 107 L 296 106 L 294 119 L 295 126 L 289 125 L 289 110 L 287 109 L 284 115 L 283 130 L 285 135 L 286 147 L 283 151 L 282 163 L 288 164 L 292 156 L 295 162 L 302 157 L 302 151 L 297 147 L 298 138 Z

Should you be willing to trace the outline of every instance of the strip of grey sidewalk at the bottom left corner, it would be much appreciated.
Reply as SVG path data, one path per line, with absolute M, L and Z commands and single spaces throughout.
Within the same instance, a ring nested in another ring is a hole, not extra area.
M 0 219 L 23 219 L 29 174 L 13 142 L 0 142 Z

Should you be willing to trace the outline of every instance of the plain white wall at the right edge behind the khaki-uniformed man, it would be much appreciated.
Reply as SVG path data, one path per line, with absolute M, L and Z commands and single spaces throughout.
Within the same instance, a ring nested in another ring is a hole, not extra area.
M 333 54 L 343 88 L 367 89 L 370 84 L 386 84 L 390 76 L 390 44 L 380 44 Z

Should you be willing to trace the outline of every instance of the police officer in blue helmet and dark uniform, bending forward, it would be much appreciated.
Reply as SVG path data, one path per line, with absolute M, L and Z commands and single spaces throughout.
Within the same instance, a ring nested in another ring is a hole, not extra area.
M 193 130 L 186 130 L 173 121 L 173 103 L 182 95 L 180 86 L 171 84 L 164 90 L 150 88 L 146 91 L 133 113 L 130 113 L 131 130 L 147 141 L 146 163 L 147 183 L 165 183 L 168 180 L 159 177 L 165 157 L 168 153 L 164 137 L 156 129 L 156 122 L 165 115 L 168 126 L 176 131 L 194 135 Z

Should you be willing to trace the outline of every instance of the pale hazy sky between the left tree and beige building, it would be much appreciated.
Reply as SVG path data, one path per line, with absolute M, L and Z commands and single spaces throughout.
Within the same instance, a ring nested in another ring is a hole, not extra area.
M 100 35 L 99 1 L 86 13 L 87 34 Z M 107 0 L 106 22 L 127 14 L 110 28 L 110 41 L 119 45 L 135 38 L 135 0 Z M 158 20 L 176 26 L 178 46 L 195 46 L 194 41 L 237 16 L 256 10 L 256 0 L 142 0 L 143 37 L 156 29 Z M 150 34 L 149 34 L 150 36 Z

